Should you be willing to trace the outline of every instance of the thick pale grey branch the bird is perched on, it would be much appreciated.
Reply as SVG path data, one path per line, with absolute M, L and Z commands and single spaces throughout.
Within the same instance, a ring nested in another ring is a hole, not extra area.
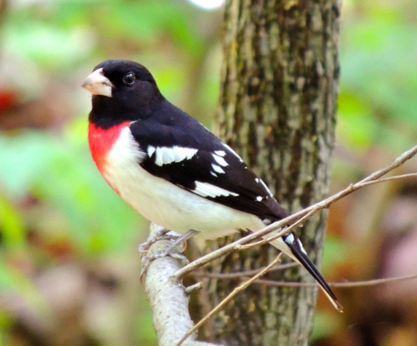
M 156 224 L 151 225 L 150 235 L 161 230 Z M 148 254 L 164 249 L 170 240 L 158 240 L 149 247 Z M 182 284 L 170 278 L 179 270 L 181 263 L 172 257 L 158 258 L 149 264 L 144 280 L 145 293 L 152 306 L 154 328 L 158 335 L 158 345 L 172 346 L 184 333 L 193 327 L 188 313 L 188 295 Z M 188 334 L 184 345 L 213 346 L 195 340 L 196 335 Z

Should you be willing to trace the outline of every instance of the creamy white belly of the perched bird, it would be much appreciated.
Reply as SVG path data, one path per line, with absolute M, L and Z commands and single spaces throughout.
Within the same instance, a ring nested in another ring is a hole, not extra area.
M 180 233 L 195 229 L 202 232 L 203 238 L 263 227 L 254 215 L 222 206 L 149 174 L 139 165 L 144 156 L 130 129 L 123 129 L 108 153 L 104 177 L 148 220 Z

